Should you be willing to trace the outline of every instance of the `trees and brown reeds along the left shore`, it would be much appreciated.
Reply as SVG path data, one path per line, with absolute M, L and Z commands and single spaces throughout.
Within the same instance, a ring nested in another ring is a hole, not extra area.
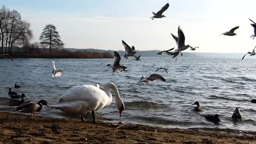
M 57 28 L 52 24 L 47 24 L 43 28 L 39 37 L 40 42 L 30 43 L 32 38 L 30 23 L 22 20 L 18 11 L 2 6 L 0 9 L 0 53 L 2 53 L 0 58 L 4 55 L 18 55 L 19 57 L 24 53 L 29 58 L 113 58 L 113 55 L 109 53 L 70 52 L 63 49 L 65 44 L 61 41 Z M 18 47 L 23 52 L 15 51 L 14 54 L 13 47 Z M 50 53 L 47 53 L 46 49 Z

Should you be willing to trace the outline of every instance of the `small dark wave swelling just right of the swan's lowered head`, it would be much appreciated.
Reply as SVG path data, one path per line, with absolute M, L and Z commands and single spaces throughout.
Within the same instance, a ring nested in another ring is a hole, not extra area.
M 133 101 L 125 102 L 125 108 L 128 110 L 143 110 L 143 109 L 158 109 L 158 108 L 168 108 L 167 105 L 158 104 L 149 101 Z

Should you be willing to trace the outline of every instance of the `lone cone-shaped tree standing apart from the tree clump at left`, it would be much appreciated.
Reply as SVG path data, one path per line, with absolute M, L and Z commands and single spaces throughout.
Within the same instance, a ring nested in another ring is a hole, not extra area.
M 51 53 L 51 49 L 61 49 L 64 47 L 64 43 L 60 40 L 60 35 L 56 30 L 56 27 L 52 24 L 48 24 L 43 29 L 43 32 L 39 38 L 42 47 L 48 47 Z

